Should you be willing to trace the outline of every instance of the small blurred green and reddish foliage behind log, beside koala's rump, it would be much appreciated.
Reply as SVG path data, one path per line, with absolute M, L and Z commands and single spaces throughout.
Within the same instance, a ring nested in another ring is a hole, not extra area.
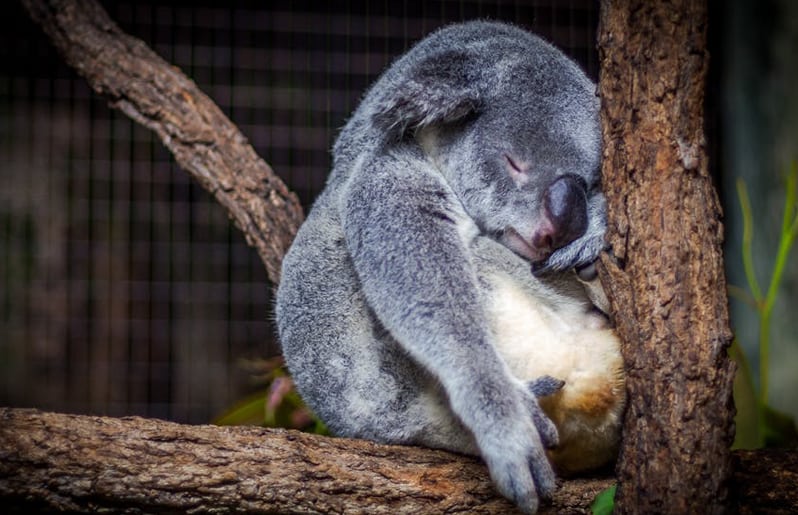
M 256 380 L 266 388 L 250 395 L 226 410 L 213 423 L 218 425 L 261 425 L 287 427 L 316 434 L 329 431 L 302 402 L 294 382 L 285 369 L 282 357 L 247 361 Z

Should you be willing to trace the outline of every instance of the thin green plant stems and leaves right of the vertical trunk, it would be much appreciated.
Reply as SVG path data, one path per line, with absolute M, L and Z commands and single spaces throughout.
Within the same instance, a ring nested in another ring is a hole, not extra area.
M 798 445 L 798 430 L 795 421 L 768 405 L 770 372 L 770 320 L 776 294 L 784 276 L 784 268 L 790 249 L 798 236 L 798 162 L 793 162 L 786 178 L 784 214 L 776 261 L 767 292 L 763 295 L 754 274 L 753 263 L 753 214 L 748 190 L 742 180 L 737 181 L 737 193 L 743 214 L 743 267 L 749 292 L 741 288 L 730 288 L 730 293 L 752 306 L 759 317 L 759 389 L 757 390 L 751 366 L 743 349 L 736 340 L 730 354 L 738 363 L 734 382 L 734 398 L 737 405 L 737 448 L 782 447 Z

